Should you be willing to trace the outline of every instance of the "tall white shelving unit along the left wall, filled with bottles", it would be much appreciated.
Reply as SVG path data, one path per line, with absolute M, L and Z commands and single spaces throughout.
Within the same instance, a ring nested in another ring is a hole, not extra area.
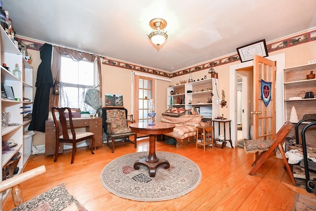
M 9 67 L 10 71 L 5 69 L 2 64 L 5 63 Z M 20 71 L 22 72 L 22 79 L 19 79 L 13 75 L 13 70 L 15 69 L 15 64 L 18 64 Z M 19 174 L 23 171 L 29 156 L 24 156 L 23 152 L 23 133 L 27 130 L 30 121 L 23 121 L 22 112 L 23 106 L 28 105 L 29 110 L 33 109 L 33 68 L 32 66 L 23 58 L 19 49 L 10 40 L 2 27 L 0 27 L 0 70 L 1 70 L 1 83 L 12 86 L 15 100 L 1 98 L 1 113 L 9 113 L 9 124 L 14 124 L 14 126 L 2 127 L 1 124 L 1 142 L 10 140 L 17 143 L 16 146 L 11 148 L 11 151 L 3 153 L 2 149 L 0 153 L 1 166 L 2 169 L 6 167 L 10 159 L 16 153 L 20 153 L 20 160 L 17 164 Z M 23 97 L 31 99 L 30 102 L 24 102 Z M 17 175 L 14 174 L 13 176 Z M 2 177 L 1 180 L 2 181 Z M 10 191 L 2 192 L 2 200 L 0 200 L 0 207 L 6 203 Z

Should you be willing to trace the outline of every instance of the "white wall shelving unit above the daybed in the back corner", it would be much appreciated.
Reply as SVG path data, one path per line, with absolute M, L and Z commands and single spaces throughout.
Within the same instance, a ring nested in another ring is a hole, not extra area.
M 203 117 L 209 119 L 217 117 L 218 104 L 215 83 L 218 80 L 214 78 L 204 79 L 196 82 L 169 86 L 167 88 L 167 109 L 170 107 L 185 108 L 186 110 L 192 108 L 211 107 L 212 115 L 210 117 Z M 171 95 L 171 91 L 174 92 Z M 192 91 L 192 92 L 191 92 Z M 178 103 L 178 98 L 180 103 Z M 170 104 L 172 100 L 172 104 Z M 182 103 L 181 103 L 182 100 Z M 189 101 L 192 103 L 189 104 Z

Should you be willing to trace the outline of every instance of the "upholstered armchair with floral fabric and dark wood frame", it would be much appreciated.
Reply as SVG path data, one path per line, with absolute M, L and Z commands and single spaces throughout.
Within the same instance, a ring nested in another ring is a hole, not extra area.
M 107 135 L 107 145 L 112 148 L 112 153 L 114 153 L 115 146 L 125 143 L 133 143 L 134 148 L 136 148 L 137 134 L 135 132 L 132 132 L 128 127 L 129 124 L 134 123 L 134 120 L 127 119 L 127 109 L 103 108 L 102 110 L 104 123 L 103 130 Z M 129 136 L 131 135 L 134 136 L 134 140 L 130 140 Z M 112 142 L 110 142 L 110 139 Z

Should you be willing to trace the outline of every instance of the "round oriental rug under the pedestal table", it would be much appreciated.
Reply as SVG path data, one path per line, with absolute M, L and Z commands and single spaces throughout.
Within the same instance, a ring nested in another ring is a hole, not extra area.
M 158 158 L 169 162 L 156 169 L 156 176 L 149 176 L 149 169 L 134 163 L 146 158 L 148 152 L 137 152 L 121 156 L 110 162 L 101 172 L 101 182 L 111 193 L 134 201 L 157 202 L 183 196 L 194 190 L 201 180 L 201 171 L 190 159 L 170 153 L 156 152 Z

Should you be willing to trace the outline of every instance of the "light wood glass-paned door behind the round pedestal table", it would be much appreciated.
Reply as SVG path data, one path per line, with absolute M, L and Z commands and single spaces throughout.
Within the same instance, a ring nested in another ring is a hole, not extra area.
M 136 123 L 147 123 L 148 99 L 155 99 L 155 79 L 134 75 L 134 119 Z

